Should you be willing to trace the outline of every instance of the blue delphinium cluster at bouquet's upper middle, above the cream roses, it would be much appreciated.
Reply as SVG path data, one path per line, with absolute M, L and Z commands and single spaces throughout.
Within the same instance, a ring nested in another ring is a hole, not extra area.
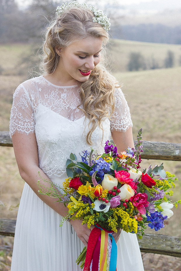
M 105 174 L 107 174 L 110 171 L 110 164 L 107 163 L 104 159 L 102 159 L 102 157 L 100 157 L 99 159 L 95 160 L 95 165 L 93 166 L 93 169 L 89 172 L 90 175 L 93 175 L 93 173 L 95 171 L 98 171 L 96 176 L 100 177 L 101 180 L 100 182 L 103 180 L 103 177 Z M 98 183 L 100 183 L 98 182 Z

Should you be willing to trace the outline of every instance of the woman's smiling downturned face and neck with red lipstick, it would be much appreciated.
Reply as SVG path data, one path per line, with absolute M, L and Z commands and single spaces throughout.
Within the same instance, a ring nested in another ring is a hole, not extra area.
M 75 83 L 88 80 L 91 71 L 100 62 L 102 38 L 84 38 L 66 48 L 59 48 L 60 55 L 57 71 L 67 82 Z

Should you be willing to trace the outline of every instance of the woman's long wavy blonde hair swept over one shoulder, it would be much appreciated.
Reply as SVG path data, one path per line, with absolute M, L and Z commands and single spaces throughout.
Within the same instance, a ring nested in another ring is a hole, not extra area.
M 43 62 L 41 68 L 47 74 L 52 74 L 58 64 L 59 55 L 56 49 L 67 47 L 72 42 L 83 38 L 93 37 L 102 38 L 103 54 L 109 36 L 101 24 L 93 22 L 93 12 L 86 8 L 72 7 L 66 10 L 61 17 L 58 15 L 46 33 L 43 45 Z M 91 71 L 90 77 L 86 82 L 80 83 L 81 108 L 89 119 L 89 132 L 86 141 L 92 144 L 91 135 L 97 126 L 102 128 L 102 121 L 114 111 L 115 97 L 114 90 L 116 79 L 105 68 L 104 57 L 101 52 L 101 61 Z

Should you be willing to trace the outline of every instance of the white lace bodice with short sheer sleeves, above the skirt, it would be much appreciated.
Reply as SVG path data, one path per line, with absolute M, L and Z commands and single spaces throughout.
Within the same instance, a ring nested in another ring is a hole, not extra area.
M 105 119 L 102 123 L 103 138 L 100 127 L 91 137 L 93 147 L 100 153 L 104 150 L 105 141 L 110 140 L 113 129 L 126 131 L 132 125 L 122 91 L 116 90 L 115 95 L 115 111 L 111 121 Z M 78 86 L 58 87 L 43 76 L 25 81 L 13 95 L 10 135 L 15 132 L 27 135 L 35 132 L 39 166 L 49 178 L 66 172 L 65 161 L 71 152 L 80 159 L 82 150 L 90 150 L 91 146 L 85 138 L 89 120 L 77 108 L 80 103 Z

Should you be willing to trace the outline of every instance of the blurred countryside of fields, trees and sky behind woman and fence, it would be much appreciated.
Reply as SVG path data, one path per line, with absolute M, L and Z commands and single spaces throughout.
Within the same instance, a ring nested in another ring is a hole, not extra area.
M 69 1 L 67 1 L 69 2 Z M 81 1 L 77 1 L 80 2 Z M 83 1 L 84 2 L 84 1 Z M 37 76 L 43 31 L 60 1 L 0 0 L 0 131 L 9 130 L 16 87 Z M 181 143 L 181 1 L 88 0 L 111 20 L 108 66 L 122 85 L 133 120 L 133 138 Z M 181 198 L 181 162 L 163 161 L 179 179 L 173 201 Z M 162 161 L 142 161 L 142 168 Z M 12 147 L 0 146 L 0 217 L 16 219 L 24 181 Z M 181 235 L 181 207 L 159 232 Z M 10 270 L 13 237 L 0 237 L 0 270 Z M 180 271 L 181 259 L 142 254 L 145 271 Z M 121 271 L 121 270 L 118 270 Z M 130 271 L 130 270 L 128 270 Z

